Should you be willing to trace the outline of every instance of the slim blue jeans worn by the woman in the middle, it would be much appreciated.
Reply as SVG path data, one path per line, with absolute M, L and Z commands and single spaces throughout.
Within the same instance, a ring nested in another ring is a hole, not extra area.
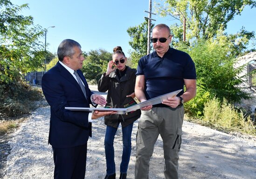
M 118 124 L 119 125 L 119 124 Z M 133 123 L 125 128 L 122 128 L 123 133 L 123 154 L 120 164 L 120 173 L 127 173 L 128 164 L 131 156 L 131 131 Z M 107 126 L 104 146 L 107 163 L 107 175 L 116 173 L 115 154 L 114 154 L 114 138 L 117 133 L 117 128 Z

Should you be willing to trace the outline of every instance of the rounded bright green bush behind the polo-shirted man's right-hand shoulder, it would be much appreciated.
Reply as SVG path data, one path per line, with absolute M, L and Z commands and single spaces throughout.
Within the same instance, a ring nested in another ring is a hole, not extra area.
M 219 41 L 199 42 L 189 54 L 194 59 L 197 77 L 204 80 L 205 88 L 220 99 L 228 102 L 239 102 L 247 98 L 239 85 L 243 77 L 239 77 L 242 68 L 235 69 L 235 55 L 230 53 L 229 45 Z

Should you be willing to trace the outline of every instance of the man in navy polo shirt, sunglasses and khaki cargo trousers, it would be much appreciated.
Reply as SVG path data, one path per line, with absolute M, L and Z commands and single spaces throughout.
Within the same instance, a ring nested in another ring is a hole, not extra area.
M 159 24 L 153 28 L 151 42 L 155 51 L 138 62 L 135 95 L 140 102 L 182 90 L 176 97 L 141 110 L 138 124 L 135 179 L 148 179 L 149 161 L 159 134 L 163 139 L 165 178 L 178 179 L 183 103 L 196 95 L 196 72 L 190 56 L 169 45 L 170 28 Z M 157 166 L 156 166 L 157 167 Z

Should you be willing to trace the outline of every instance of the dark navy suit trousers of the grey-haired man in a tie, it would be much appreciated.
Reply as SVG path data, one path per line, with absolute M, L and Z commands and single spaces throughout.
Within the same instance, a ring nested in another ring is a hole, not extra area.
M 54 179 L 84 179 L 87 144 L 70 148 L 53 149 Z

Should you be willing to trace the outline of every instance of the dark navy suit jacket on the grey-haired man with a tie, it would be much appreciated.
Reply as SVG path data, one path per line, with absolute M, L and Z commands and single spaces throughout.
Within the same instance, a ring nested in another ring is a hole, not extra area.
M 93 94 L 81 70 L 77 70 L 86 89 L 87 97 L 76 79 L 59 62 L 42 77 L 42 91 L 50 105 L 50 131 L 48 142 L 52 147 L 66 148 L 81 146 L 91 136 L 88 112 L 70 111 L 65 107 L 85 107 L 91 104 Z

